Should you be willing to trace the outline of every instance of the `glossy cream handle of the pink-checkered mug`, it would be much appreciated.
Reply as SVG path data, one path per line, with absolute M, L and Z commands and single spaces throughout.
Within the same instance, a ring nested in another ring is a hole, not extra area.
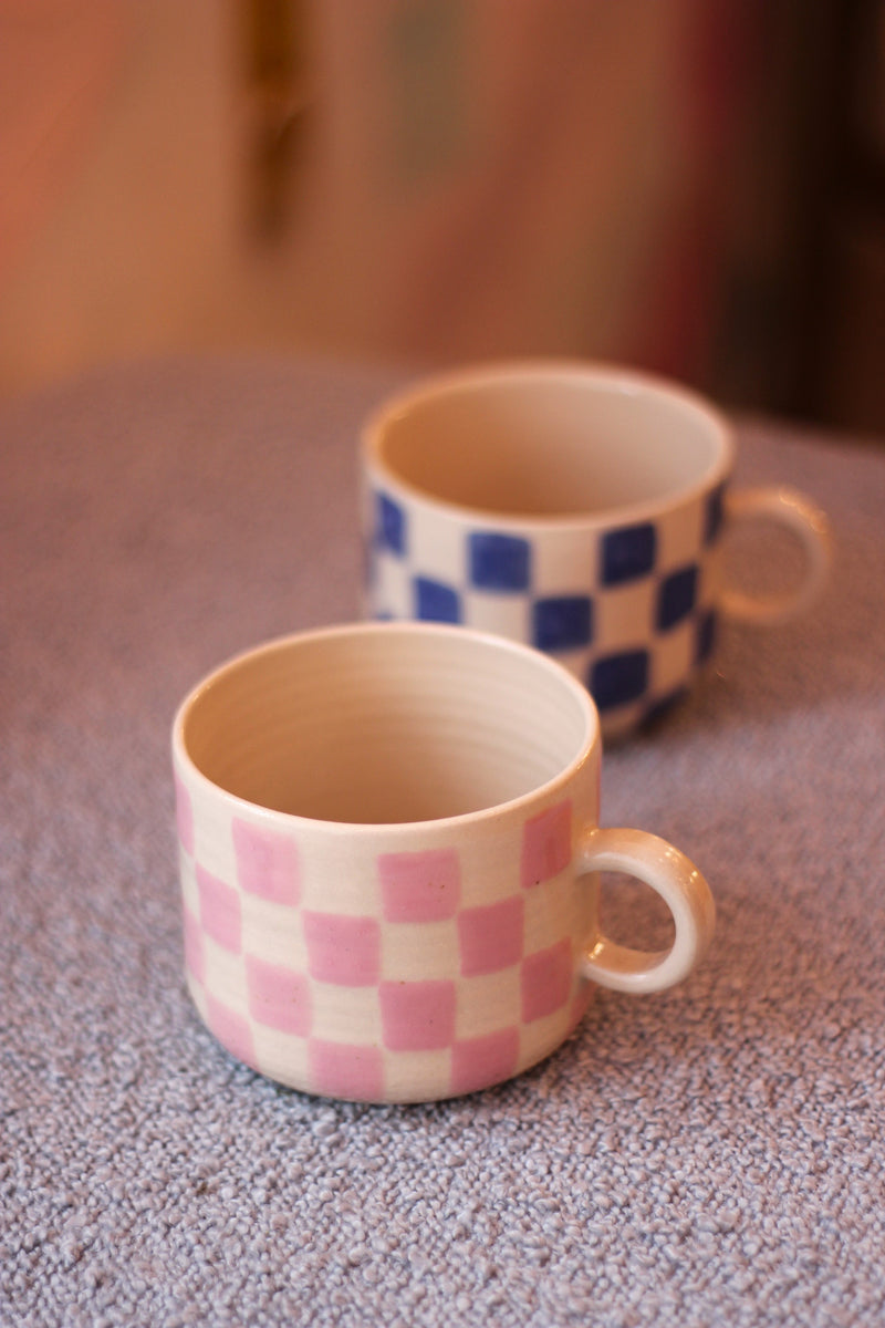
M 693 862 L 644 830 L 585 833 L 579 846 L 579 872 L 621 871 L 650 886 L 673 914 L 670 950 L 632 950 L 602 932 L 592 938 L 581 972 L 600 987 L 618 992 L 659 992 L 674 987 L 698 963 L 713 936 L 716 910 L 710 887 Z

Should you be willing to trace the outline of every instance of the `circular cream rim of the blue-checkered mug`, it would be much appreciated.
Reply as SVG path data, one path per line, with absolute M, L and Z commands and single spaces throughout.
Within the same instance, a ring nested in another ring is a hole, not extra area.
M 657 498 L 620 503 L 600 511 L 576 513 L 520 513 L 474 506 L 442 498 L 430 489 L 406 479 L 394 470 L 382 456 L 382 445 L 387 425 L 394 418 L 402 418 L 421 402 L 434 397 L 446 397 L 462 388 L 483 386 L 507 380 L 567 380 L 584 381 L 590 386 L 605 388 L 629 396 L 667 397 L 703 417 L 714 440 L 715 456 L 702 475 L 690 483 L 670 489 Z M 368 467 L 378 474 L 383 483 L 411 503 L 423 505 L 443 513 L 448 519 L 466 525 L 482 525 L 498 530 L 520 527 L 528 531 L 564 530 L 608 530 L 612 526 L 654 521 L 685 502 L 711 493 L 731 473 L 735 459 L 732 430 L 724 414 L 693 388 L 675 382 L 665 376 L 633 369 L 602 360 L 576 359 L 508 359 L 492 360 L 480 365 L 464 365 L 443 369 L 439 373 L 425 374 L 411 381 L 399 392 L 387 396 L 366 417 L 362 430 L 362 450 Z

